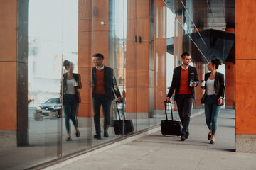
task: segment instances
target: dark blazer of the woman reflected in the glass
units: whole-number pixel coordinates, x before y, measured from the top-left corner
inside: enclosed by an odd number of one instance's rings
[[[75,87],[75,98],[76,98],[76,102],[80,103],[81,102],[81,98],[80,98],[80,94],[78,89],[82,88],[82,84],[81,84],[81,78],[80,78],[80,74],[75,74],[73,73],[74,79],[75,81],[78,81],[78,86]],[[67,89],[67,73],[63,74],[63,103],[65,101],[65,91]]]

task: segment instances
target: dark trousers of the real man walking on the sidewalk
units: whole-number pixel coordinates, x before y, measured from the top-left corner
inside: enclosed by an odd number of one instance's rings
[[[181,135],[187,136],[189,132],[188,125],[190,122],[193,95],[179,94],[176,100],[176,103],[178,106],[178,115],[181,119],[181,124],[182,124]]]

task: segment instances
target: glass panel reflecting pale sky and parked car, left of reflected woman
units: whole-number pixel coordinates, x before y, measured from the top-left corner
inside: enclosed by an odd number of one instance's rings
[[[31,165],[61,156],[62,13],[63,1],[29,1],[28,90],[31,102],[28,111],[30,149],[26,151],[37,153],[29,157]]]

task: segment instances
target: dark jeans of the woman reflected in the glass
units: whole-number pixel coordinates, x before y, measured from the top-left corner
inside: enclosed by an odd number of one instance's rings
[[[65,114],[65,127],[68,133],[70,133],[70,119],[73,122],[75,128],[78,127],[77,108],[78,102],[75,98],[75,94],[65,94],[65,101],[63,101],[64,114]]]

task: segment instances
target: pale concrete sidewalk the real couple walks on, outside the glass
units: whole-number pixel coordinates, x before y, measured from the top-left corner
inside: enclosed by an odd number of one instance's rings
[[[256,154],[235,152],[235,110],[221,110],[215,145],[207,140],[204,115],[191,119],[190,136],[146,135],[60,169],[255,169]]]

